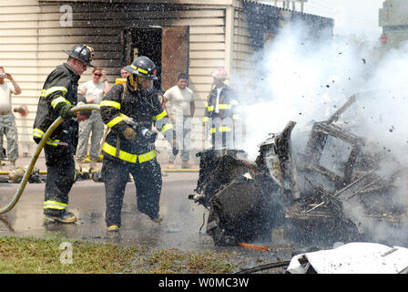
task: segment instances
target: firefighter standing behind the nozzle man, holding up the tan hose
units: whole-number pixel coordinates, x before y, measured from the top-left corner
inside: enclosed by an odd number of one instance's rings
[[[41,91],[33,136],[34,141],[39,143],[58,117],[64,119],[44,147],[47,171],[44,214],[46,219],[56,222],[75,223],[76,215],[68,212],[66,207],[68,193],[74,183],[78,119],[85,118],[72,113],[71,108],[78,102],[78,80],[87,66],[92,66],[94,49],[76,45],[64,52],[68,55],[66,63],[57,66],[48,75]],[[74,119],[76,116],[77,119]]]

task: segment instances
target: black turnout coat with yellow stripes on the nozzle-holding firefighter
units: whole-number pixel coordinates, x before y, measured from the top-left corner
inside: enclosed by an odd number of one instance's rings
[[[102,120],[110,129],[102,146],[104,159],[143,163],[157,156],[154,144],[148,144],[143,139],[130,142],[125,138],[123,131],[128,128],[128,123],[121,113],[148,130],[152,130],[154,125],[169,142],[172,141],[172,123],[168,120],[166,110],[161,108],[157,91],[154,89],[135,91],[127,84],[117,84],[102,99],[100,113]]]

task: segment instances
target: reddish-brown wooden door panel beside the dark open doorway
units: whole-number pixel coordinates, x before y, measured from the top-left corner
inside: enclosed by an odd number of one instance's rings
[[[161,34],[161,88],[166,91],[179,73],[189,73],[189,26],[163,27]]]

